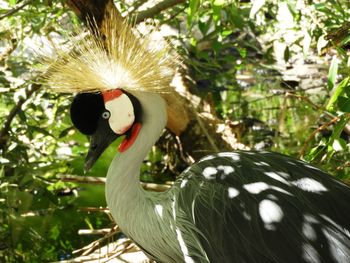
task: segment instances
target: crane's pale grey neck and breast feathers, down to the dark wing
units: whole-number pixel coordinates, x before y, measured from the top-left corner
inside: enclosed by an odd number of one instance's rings
[[[177,224],[176,188],[156,193],[145,191],[140,185],[142,161],[164,129],[167,113],[165,101],[158,94],[135,92],[133,95],[141,103],[142,128],[134,144],[118,154],[109,167],[108,207],[121,230],[155,259],[195,262],[187,256],[186,241],[193,253],[202,257],[201,262],[208,262],[199,242],[194,241],[191,223],[182,218],[181,224]]]

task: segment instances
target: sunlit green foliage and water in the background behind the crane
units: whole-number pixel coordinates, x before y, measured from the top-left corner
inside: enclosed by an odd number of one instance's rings
[[[130,16],[154,5],[145,2],[116,4]],[[242,124],[250,147],[300,155],[348,180],[349,1],[178,2],[153,19],[170,32],[191,92]],[[113,224],[84,209],[105,207],[104,190],[77,176],[87,139],[72,128],[71,98],[36,84],[33,50],[64,44],[78,25],[64,1],[0,1],[1,262],[69,259],[96,239],[79,229]],[[115,147],[89,176],[106,174]],[[164,162],[152,152],[143,179],[161,180],[152,171]]]

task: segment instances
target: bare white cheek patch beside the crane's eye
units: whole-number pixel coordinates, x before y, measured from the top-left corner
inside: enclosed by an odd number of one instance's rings
[[[116,134],[124,134],[134,123],[134,107],[125,94],[105,102],[105,108],[111,113],[109,126]]]

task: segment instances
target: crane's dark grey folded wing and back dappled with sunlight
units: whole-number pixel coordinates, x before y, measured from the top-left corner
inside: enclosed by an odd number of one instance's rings
[[[175,184],[210,262],[350,262],[350,189],[305,162],[220,153]]]

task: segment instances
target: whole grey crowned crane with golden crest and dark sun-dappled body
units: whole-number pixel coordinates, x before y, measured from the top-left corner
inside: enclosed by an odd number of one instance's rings
[[[123,230],[158,262],[350,262],[350,189],[300,160],[222,152],[188,167],[165,192],[140,186],[143,159],[167,121],[167,48],[149,48],[113,22],[58,51],[47,83],[77,92],[71,118],[91,136],[86,169],[124,136],[106,199]]]

